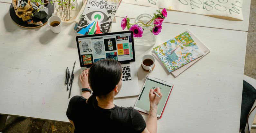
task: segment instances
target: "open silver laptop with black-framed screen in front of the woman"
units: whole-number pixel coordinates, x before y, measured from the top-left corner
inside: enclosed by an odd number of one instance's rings
[[[115,59],[122,64],[122,88],[115,98],[139,95],[132,31],[83,35],[76,37],[83,70],[102,59]]]

